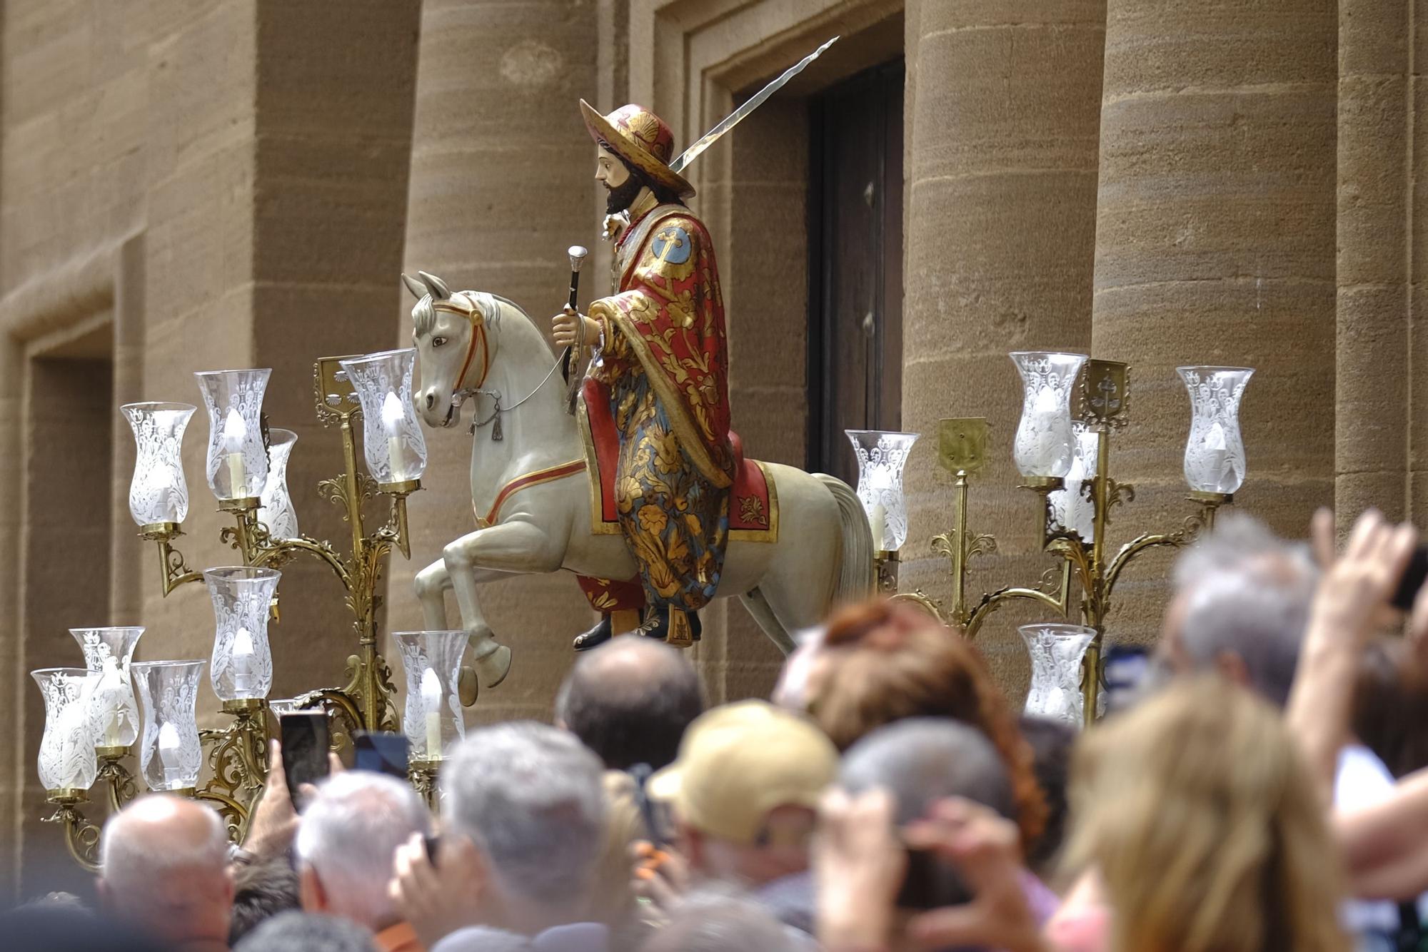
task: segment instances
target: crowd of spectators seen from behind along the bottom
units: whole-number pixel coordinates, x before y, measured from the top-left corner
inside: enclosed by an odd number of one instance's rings
[[[1411,527],[1245,517],[1180,555],[1132,704],[1018,716],[974,644],[844,608],[770,701],[707,708],[681,652],[583,654],[554,725],[473,729],[433,816],[273,771],[241,849],[176,796],[109,819],[94,909],[0,943],[208,952],[1348,952],[1428,948],[1428,595]],[[1401,601],[1401,599],[1399,599]],[[1428,909],[1428,903],[1425,903]]]

